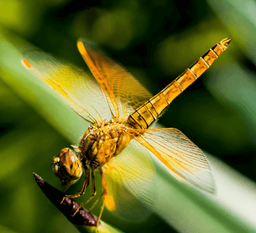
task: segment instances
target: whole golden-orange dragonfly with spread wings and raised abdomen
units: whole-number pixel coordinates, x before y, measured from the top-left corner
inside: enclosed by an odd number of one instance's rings
[[[94,172],[100,171],[102,194],[89,210],[103,199],[97,226],[104,206],[112,210],[116,207],[113,196],[118,190],[109,188],[109,177],[124,183],[131,195],[142,196],[146,202],[152,199],[150,177],[154,168],[149,168],[152,165],[147,158],[140,158],[147,150],[179,181],[215,192],[214,178],[203,152],[181,131],[152,126],[170,103],[210,68],[230,41],[228,37],[214,45],[154,97],[122,65],[86,39],[77,41],[77,48],[93,76],[38,50],[24,54],[24,66],[90,124],[78,145],[62,149],[53,159],[53,172],[65,188],[76,183],[84,172],[82,189],[66,194],[69,198],[83,195],[91,179],[92,195],[82,207],[95,196]]]

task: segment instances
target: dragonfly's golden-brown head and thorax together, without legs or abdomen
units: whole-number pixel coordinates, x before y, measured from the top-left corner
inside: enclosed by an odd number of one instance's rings
[[[82,168],[91,170],[102,167],[117,156],[131,141],[127,134],[127,119],[112,119],[103,123],[93,123],[82,135],[80,144],[71,149],[64,148],[53,159],[53,172],[62,185],[72,185],[82,175]]]

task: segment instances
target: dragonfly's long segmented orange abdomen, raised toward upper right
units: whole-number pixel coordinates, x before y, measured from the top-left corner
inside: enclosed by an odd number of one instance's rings
[[[231,38],[223,39],[200,57],[161,92],[136,109],[128,118],[128,123],[137,129],[147,129],[154,123],[172,101],[198,79],[205,70],[228,48]]]

